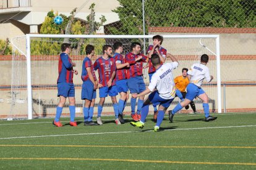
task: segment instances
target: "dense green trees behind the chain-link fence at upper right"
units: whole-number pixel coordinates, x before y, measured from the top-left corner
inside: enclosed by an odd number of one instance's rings
[[[111,34],[143,34],[142,1],[117,0],[113,10],[121,25]],[[150,26],[237,27],[256,26],[255,0],[145,0],[145,28]]]

